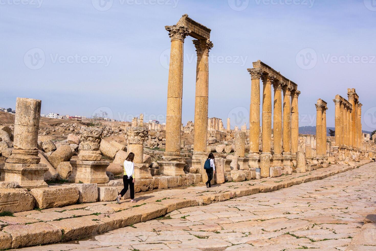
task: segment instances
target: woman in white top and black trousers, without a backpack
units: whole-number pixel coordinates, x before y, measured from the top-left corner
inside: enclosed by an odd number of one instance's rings
[[[136,202],[135,198],[135,164],[133,163],[133,159],[135,158],[135,154],[130,152],[127,158],[124,161],[124,176],[123,176],[123,183],[124,188],[121,190],[120,195],[116,197],[116,201],[119,204],[121,197],[125,195],[128,190],[128,185],[130,189],[130,202]]]

